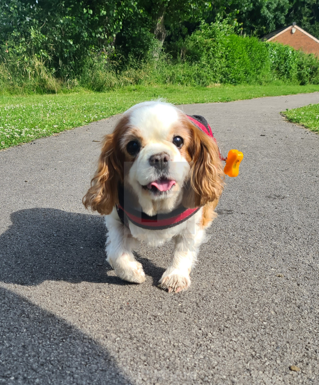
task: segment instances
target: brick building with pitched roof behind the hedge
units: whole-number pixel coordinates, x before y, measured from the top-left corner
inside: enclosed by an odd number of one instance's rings
[[[306,54],[315,54],[319,57],[319,40],[298,27],[296,23],[292,23],[288,27],[277,29],[265,35],[262,40],[267,42],[278,42],[290,45],[296,50],[302,50]]]

